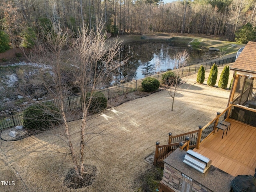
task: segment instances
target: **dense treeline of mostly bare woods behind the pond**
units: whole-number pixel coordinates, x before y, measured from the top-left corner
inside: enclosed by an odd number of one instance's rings
[[[42,24],[76,32],[83,22],[94,28],[102,19],[112,34],[206,34],[233,41],[244,25],[256,26],[255,14],[256,0],[2,0],[0,40],[29,47]]]

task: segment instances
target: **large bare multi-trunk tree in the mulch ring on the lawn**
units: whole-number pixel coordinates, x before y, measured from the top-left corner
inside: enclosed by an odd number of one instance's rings
[[[93,113],[90,112],[90,108],[94,93],[98,88],[106,86],[118,72],[118,68],[126,62],[120,61],[118,57],[121,42],[117,38],[106,42],[103,27],[102,22],[92,30],[83,26],[76,38],[73,38],[69,31],[60,25],[53,25],[50,30],[42,30],[40,41],[37,42],[31,56],[34,62],[49,66],[48,72],[44,70],[40,77],[48,94],[57,101],[64,124],[68,154],[72,157],[76,175],[80,180],[83,180],[86,174],[86,144],[104,132],[88,126],[89,114]],[[74,85],[80,91],[82,105],[79,146],[72,142],[65,111],[65,99],[72,94]]]

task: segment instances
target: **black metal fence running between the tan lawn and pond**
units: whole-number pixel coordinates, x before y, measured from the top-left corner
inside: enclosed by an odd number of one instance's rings
[[[218,66],[223,66],[228,63],[234,62],[236,57],[232,58],[227,58],[215,62],[209,62],[203,64],[205,70],[210,69],[212,65],[215,63]],[[200,68],[201,64],[198,65],[193,65],[193,66],[188,66],[186,68],[182,69],[182,77],[189,76],[192,74],[196,74]],[[162,74],[156,74],[154,76],[151,76],[156,78],[157,80],[162,79]],[[98,92],[102,92],[106,98],[111,99],[115,98],[117,96],[124,95],[126,93],[138,91],[141,88],[141,83],[143,79],[140,80],[134,80],[131,82],[126,82],[122,83],[117,86],[111,86],[107,88],[103,88],[98,90]],[[52,100],[52,102],[54,102]],[[81,95],[75,95],[75,96],[69,96],[68,98],[65,99],[64,101],[64,110],[65,111],[72,111],[72,110],[77,110],[80,109],[81,106]],[[22,111],[24,111],[26,107],[20,107],[20,108],[14,108],[14,109],[9,109],[6,111],[1,111],[0,112],[0,130],[10,128],[13,126],[21,125],[22,124]]]

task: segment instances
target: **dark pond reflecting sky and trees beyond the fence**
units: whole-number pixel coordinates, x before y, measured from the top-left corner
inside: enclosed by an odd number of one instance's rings
[[[120,55],[122,58],[128,56],[129,60],[120,69],[119,76],[115,82],[132,81],[142,79],[159,72],[172,70],[174,68],[174,54],[187,50],[190,55],[188,64],[196,64],[205,51],[194,50],[188,46],[173,46],[170,43],[160,42],[136,42],[122,46]]]

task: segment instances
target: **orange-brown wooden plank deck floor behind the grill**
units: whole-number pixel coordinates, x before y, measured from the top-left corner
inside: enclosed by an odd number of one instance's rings
[[[215,131],[195,152],[212,160],[212,165],[231,174],[254,175],[256,168],[256,128],[231,122],[230,131]]]

